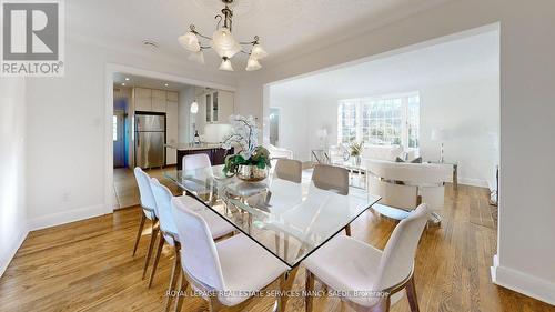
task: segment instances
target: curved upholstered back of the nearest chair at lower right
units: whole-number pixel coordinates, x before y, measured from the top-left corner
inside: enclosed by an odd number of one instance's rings
[[[380,260],[375,290],[391,288],[411,274],[428,214],[427,205],[421,204],[395,227]]]

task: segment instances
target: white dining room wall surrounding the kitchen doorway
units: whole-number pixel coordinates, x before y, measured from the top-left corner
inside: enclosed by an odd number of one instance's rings
[[[232,85],[229,76],[165,62],[150,52],[113,51],[67,40],[65,77],[28,82],[27,189],[31,229],[111,211],[107,125],[107,63]],[[110,90],[110,89],[108,89]],[[111,107],[111,105],[110,105]],[[111,112],[108,113],[111,115]],[[109,157],[107,154],[110,153]]]

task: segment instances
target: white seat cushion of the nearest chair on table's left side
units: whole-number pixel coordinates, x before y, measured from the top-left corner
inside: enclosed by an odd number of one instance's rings
[[[238,295],[238,292],[260,291],[289,270],[287,265],[244,234],[218,242],[216,250],[225,290],[232,294],[220,295],[219,300],[228,306],[248,299]]]

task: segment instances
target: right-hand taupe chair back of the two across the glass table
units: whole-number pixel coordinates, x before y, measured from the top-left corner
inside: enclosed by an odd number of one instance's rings
[[[349,194],[349,171],[344,168],[316,164],[312,182],[319,189],[335,191],[342,195]]]

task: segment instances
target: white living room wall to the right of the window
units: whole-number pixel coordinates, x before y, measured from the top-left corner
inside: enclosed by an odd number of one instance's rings
[[[498,164],[498,78],[434,85],[420,90],[420,152],[424,160],[440,159],[434,129],[445,130],[446,162],[458,163],[458,182],[487,188]]]

